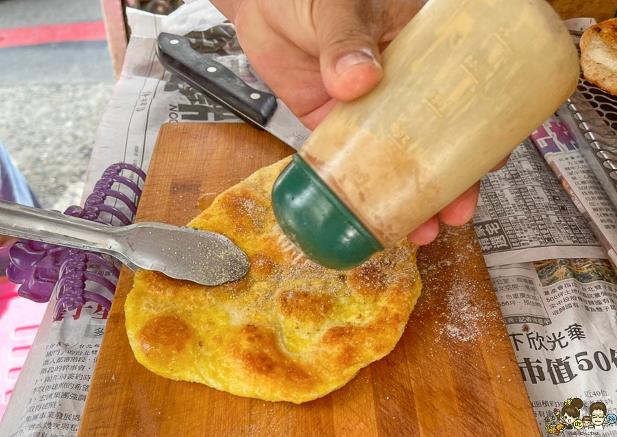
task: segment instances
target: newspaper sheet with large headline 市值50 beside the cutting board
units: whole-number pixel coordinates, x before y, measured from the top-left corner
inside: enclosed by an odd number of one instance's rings
[[[617,436],[617,277],[609,261],[548,259],[489,274],[542,435]],[[582,406],[566,416],[568,399]]]

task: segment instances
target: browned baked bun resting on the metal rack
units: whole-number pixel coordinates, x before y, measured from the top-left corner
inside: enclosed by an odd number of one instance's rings
[[[593,25],[581,38],[585,79],[617,95],[617,19]]]

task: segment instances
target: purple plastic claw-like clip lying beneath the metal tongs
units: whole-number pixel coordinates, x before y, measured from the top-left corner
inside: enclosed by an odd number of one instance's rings
[[[107,213],[109,220],[116,217],[122,225],[131,224],[137,211],[141,189],[138,183],[128,177],[121,176],[123,170],[132,172],[145,181],[145,172],[134,165],[125,163],[110,165],[96,183],[93,193],[84,202],[84,208],[69,206],[64,213],[111,225],[110,222],[99,217],[101,213]],[[112,188],[115,184],[119,184],[118,189]],[[132,191],[134,200],[122,193],[121,187],[126,187]],[[107,204],[108,198],[119,200],[125,204],[128,214],[121,211],[117,206]],[[106,272],[109,272],[113,281],[101,274],[88,271],[89,263],[96,263]],[[72,311],[88,301],[97,303],[109,310],[111,300],[97,292],[86,290],[86,287],[89,283],[99,283],[110,294],[114,294],[119,274],[118,268],[104,255],[30,240],[20,240],[12,246],[10,264],[7,268],[8,279],[13,283],[21,284],[18,291],[19,295],[35,302],[48,302],[54,287],[56,287],[58,295],[54,311],[56,320],[62,317],[62,312],[65,310]]]

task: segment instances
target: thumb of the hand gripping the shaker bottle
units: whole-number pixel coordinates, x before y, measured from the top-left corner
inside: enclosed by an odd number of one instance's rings
[[[381,80],[379,49],[369,2],[338,0],[319,3],[315,31],[319,65],[326,91],[349,102],[371,91]]]

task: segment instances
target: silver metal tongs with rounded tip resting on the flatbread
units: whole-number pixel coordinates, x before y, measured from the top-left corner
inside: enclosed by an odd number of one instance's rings
[[[106,226],[5,200],[0,234],[105,253],[132,270],[157,270],[202,285],[241,279],[250,267],[245,253],[221,234],[152,222]]]

